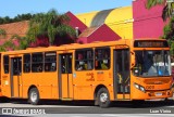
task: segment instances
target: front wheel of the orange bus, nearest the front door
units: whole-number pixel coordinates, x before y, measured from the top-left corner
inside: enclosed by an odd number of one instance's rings
[[[101,88],[97,93],[97,100],[100,107],[109,107],[111,104],[109,92],[105,88]]]

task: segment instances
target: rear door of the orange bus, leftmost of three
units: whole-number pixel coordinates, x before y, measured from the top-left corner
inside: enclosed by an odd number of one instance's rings
[[[11,96],[22,96],[22,57],[11,57]]]

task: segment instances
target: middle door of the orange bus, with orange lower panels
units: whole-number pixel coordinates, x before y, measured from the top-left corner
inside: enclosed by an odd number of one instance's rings
[[[59,55],[59,98],[72,99],[72,53]]]

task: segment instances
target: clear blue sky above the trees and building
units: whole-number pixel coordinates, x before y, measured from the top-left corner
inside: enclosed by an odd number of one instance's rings
[[[132,5],[132,0],[0,0],[0,17],[47,13],[51,9],[59,13],[71,11],[73,14],[79,14],[127,5]]]

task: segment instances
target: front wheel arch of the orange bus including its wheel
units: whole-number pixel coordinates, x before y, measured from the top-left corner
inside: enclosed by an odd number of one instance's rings
[[[100,107],[109,107],[111,104],[110,94],[105,86],[99,84],[95,90],[95,105]]]

